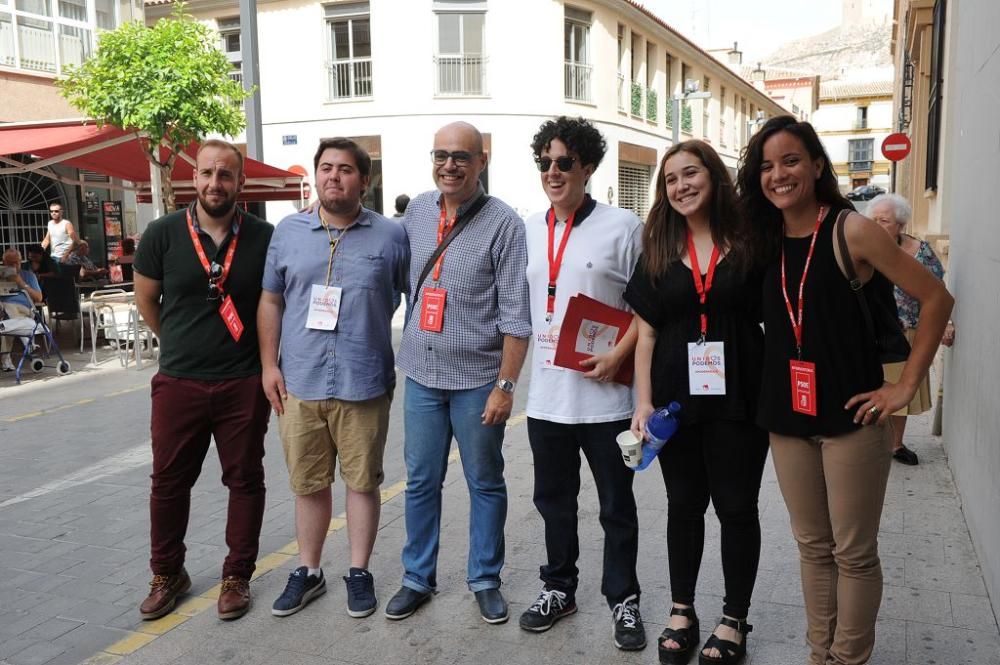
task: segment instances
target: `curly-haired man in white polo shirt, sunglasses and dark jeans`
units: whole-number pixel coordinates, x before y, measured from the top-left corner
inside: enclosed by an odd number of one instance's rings
[[[533,352],[528,392],[528,438],[534,457],[534,502],[545,522],[544,588],[521,615],[521,628],[542,632],[576,612],[580,554],[577,496],[580,453],[593,472],[604,529],[601,593],[614,621],[615,646],[639,650],[646,633],[639,614],[636,558],[639,521],[615,437],[629,429],[630,386],[615,383],[635,348],[633,324],[610,352],[581,363],[580,371],[553,358],[567,303],[579,293],[618,309],[639,258],[642,224],[632,212],[594,201],[587,181],[607,145],[586,120],[560,117],[542,124],[532,141],[548,210],[525,221]]]

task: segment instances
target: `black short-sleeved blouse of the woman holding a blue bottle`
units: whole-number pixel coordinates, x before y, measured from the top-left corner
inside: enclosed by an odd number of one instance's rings
[[[650,365],[653,405],[679,402],[682,425],[719,420],[753,422],[764,350],[761,276],[760,270],[742,274],[725,258],[719,261],[705,302],[706,337],[725,345],[726,394],[692,396],[687,345],[701,336],[701,310],[691,269],[677,261],[654,284],[639,259],[625,289],[625,301],[656,329]]]

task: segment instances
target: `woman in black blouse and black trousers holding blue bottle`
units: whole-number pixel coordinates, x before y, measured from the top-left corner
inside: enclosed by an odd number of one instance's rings
[[[632,429],[642,436],[654,406],[676,400],[682,407],[681,427],[659,455],[673,600],[660,662],[686,663],[699,642],[694,594],[711,498],[726,596],[699,659],[728,665],[746,651],[760,555],[767,433],[753,419],[764,340],[760,274],[729,172],[709,145],[686,141],[664,155],[643,247],[625,291],[639,325]]]

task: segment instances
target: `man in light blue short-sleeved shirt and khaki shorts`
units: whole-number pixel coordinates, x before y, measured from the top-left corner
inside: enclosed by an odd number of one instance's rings
[[[377,606],[368,560],[396,383],[393,292],[407,290],[410,254],[403,228],[361,205],[371,173],[363,149],[326,139],[314,162],[320,205],[275,228],[257,314],[264,392],[278,414],[296,495],[300,559],[271,612],[294,614],[326,590],[319,564],[339,457],[351,555],[347,611],[360,618]]]

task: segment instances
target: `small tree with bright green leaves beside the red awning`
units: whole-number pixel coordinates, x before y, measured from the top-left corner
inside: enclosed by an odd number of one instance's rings
[[[180,152],[207,134],[235,136],[246,126],[241,103],[252,93],[229,77],[217,40],[178,2],[152,28],[133,21],[102,33],[94,56],[58,81],[85,116],[148,137],[146,157],[161,174],[167,210],[175,208],[170,174]]]

